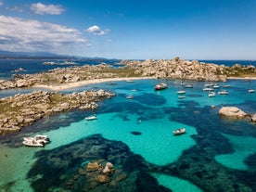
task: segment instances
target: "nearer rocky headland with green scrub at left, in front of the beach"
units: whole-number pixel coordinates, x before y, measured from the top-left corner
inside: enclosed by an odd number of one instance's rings
[[[70,109],[96,109],[101,98],[115,96],[104,91],[83,91],[64,95],[56,92],[35,91],[31,94],[0,99],[0,135],[14,133],[22,127],[58,112]]]

